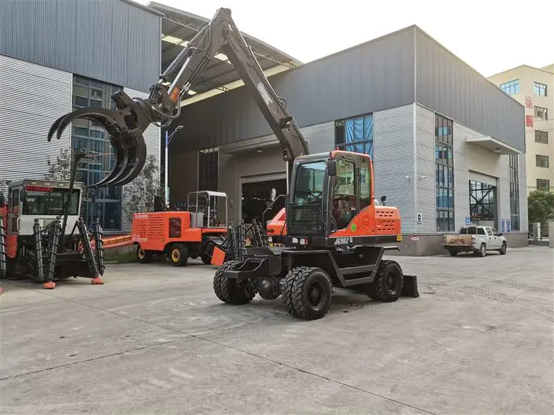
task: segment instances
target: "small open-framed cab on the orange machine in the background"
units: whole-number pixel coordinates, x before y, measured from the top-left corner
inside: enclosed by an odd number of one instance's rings
[[[229,207],[224,192],[200,190],[187,195],[193,228],[226,228]]]

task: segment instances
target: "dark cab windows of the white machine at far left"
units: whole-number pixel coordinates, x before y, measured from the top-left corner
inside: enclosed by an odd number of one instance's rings
[[[78,189],[73,189],[71,192],[68,207],[70,215],[79,213],[79,192]],[[45,187],[37,190],[29,187],[26,199],[23,201],[23,214],[61,215],[68,194],[69,190],[66,189]]]

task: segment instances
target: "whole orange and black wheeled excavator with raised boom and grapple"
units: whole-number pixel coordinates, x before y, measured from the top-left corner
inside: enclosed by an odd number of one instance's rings
[[[73,111],[53,124],[48,140],[56,131],[59,138],[75,118],[100,122],[111,133],[118,163],[96,185],[129,183],[145,163],[143,131],[150,122],[166,127],[179,117],[181,97],[220,50],[283,147],[288,194],[285,247],[238,250],[235,260],[217,269],[215,295],[235,305],[248,304],[256,294],[263,299],[281,296],[289,313],[306,320],[328,313],[333,287],[353,288],[384,302],[401,295],[418,297],[417,278],[404,275],[396,261],[383,259],[386,250],[398,249],[395,243],[402,241],[400,214],[397,208],[376,208],[370,156],[338,150],[309,154],[285,100],[269,84],[229,9],[217,10],[190,40],[152,86],[148,99],[131,99],[118,91],[112,95],[116,111]]]

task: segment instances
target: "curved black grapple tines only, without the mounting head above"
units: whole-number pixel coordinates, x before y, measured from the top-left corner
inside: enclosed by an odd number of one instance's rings
[[[80,108],[58,118],[48,131],[48,141],[54,134],[60,139],[64,129],[74,120],[83,118],[97,122],[110,135],[114,147],[115,164],[111,172],[89,187],[113,187],[131,183],[141,172],[146,161],[146,143],[141,129],[131,129],[127,122],[136,125],[136,114],[130,108],[111,110],[105,108]]]

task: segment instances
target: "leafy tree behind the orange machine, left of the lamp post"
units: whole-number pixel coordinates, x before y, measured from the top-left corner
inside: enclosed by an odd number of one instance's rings
[[[132,216],[134,213],[152,212],[155,196],[163,195],[156,156],[149,154],[139,176],[123,191],[123,213]]]

